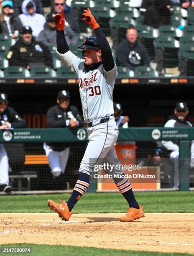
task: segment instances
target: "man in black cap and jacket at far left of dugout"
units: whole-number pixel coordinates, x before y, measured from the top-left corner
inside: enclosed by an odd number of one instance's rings
[[[11,107],[8,107],[8,96],[0,92],[0,129],[26,128],[26,122]],[[0,143],[0,191],[10,192],[8,156]]]

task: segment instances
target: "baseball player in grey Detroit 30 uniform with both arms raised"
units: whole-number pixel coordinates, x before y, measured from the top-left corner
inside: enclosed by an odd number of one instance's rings
[[[95,37],[87,37],[79,49],[83,49],[84,59],[79,59],[66,44],[64,36],[64,11],[54,16],[57,24],[57,54],[65,64],[78,74],[79,93],[82,102],[84,121],[87,127],[89,143],[79,167],[79,178],[71,197],[61,203],[48,200],[48,207],[59,214],[62,220],[69,220],[71,210],[89,187],[94,166],[104,159],[120,164],[114,148],[118,138],[115,123],[112,92],[117,77],[117,67],[112,57],[106,37],[100,30],[89,8],[84,10],[84,22],[94,30]],[[122,175],[121,168],[115,173]],[[110,174],[110,172],[109,172]],[[127,178],[114,178],[114,182],[129,204],[127,214],[120,221],[133,221],[144,216],[143,207],[138,205],[132,187]]]

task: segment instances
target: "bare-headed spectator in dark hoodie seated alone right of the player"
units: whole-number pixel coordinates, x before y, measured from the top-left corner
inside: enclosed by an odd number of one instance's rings
[[[138,66],[149,66],[147,50],[138,41],[138,32],[133,25],[127,29],[126,39],[123,39],[118,45],[117,65],[132,70]]]

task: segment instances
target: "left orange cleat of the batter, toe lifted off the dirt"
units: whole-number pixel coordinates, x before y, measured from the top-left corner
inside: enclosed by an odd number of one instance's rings
[[[59,202],[61,202],[61,204],[56,203],[53,200],[49,199],[47,201],[48,207],[51,208],[51,210],[53,210],[54,212],[58,213],[59,217],[62,220],[66,220],[66,221],[69,220],[72,212],[69,212],[67,203],[59,198],[57,198],[57,200],[59,200]]]

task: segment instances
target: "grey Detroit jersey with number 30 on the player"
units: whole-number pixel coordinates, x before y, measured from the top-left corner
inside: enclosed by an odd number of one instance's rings
[[[56,53],[65,55],[58,51]],[[93,71],[83,72],[84,60],[71,53],[71,69],[78,74],[85,122],[114,115],[112,92],[117,77],[116,64],[109,72],[106,72],[102,65]]]

